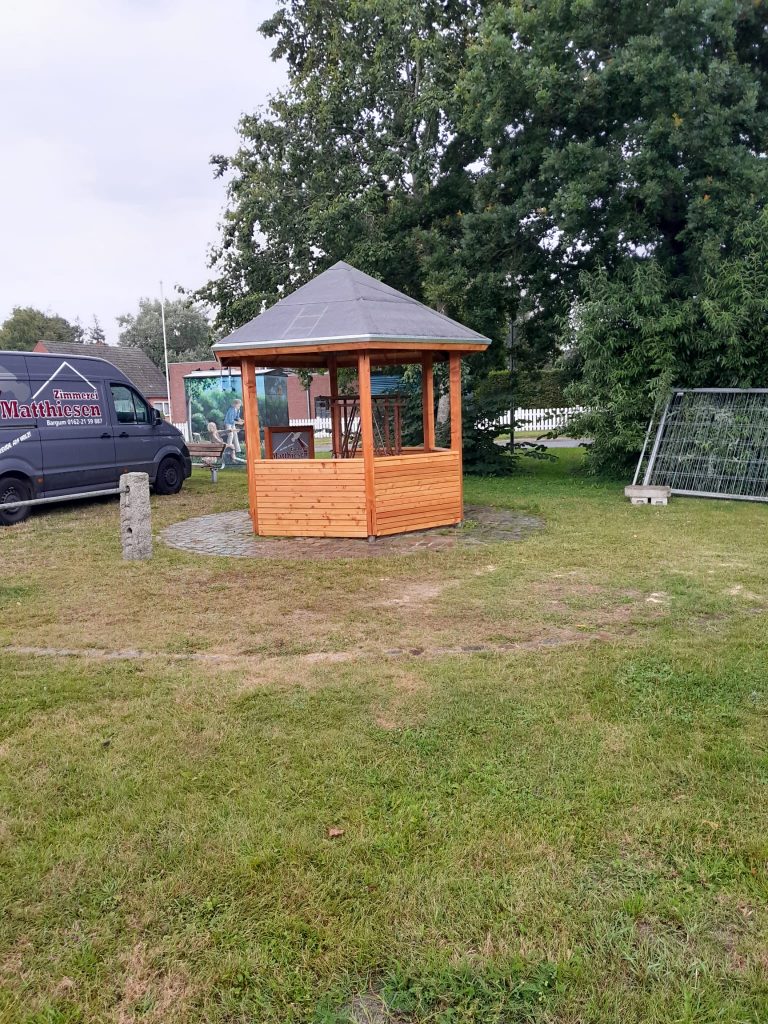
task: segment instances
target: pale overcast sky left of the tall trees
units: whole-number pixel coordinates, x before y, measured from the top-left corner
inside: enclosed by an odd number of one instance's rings
[[[207,280],[211,154],[283,82],[278,0],[0,0],[0,322],[14,305],[108,340],[141,296]]]

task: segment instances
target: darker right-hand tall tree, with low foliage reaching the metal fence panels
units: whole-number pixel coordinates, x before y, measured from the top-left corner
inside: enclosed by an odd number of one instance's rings
[[[765,306],[744,323],[733,283],[761,246],[767,75],[752,0],[519,0],[483,22],[460,83],[486,146],[467,247],[532,339],[564,326],[597,463],[627,464],[670,384],[758,382]]]

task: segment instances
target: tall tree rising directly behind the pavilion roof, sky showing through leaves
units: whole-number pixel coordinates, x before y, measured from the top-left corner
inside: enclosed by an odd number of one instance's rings
[[[459,258],[476,141],[455,84],[481,0],[289,0],[262,32],[288,85],[214,163],[229,205],[202,296],[232,328],[339,259],[487,327]]]

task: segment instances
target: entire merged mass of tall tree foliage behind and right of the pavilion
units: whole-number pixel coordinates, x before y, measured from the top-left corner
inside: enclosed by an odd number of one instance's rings
[[[494,339],[471,393],[514,322],[517,390],[566,346],[624,466],[664,386],[752,379],[724,274],[760,245],[765,29],[763,0],[285,0],[201,297],[231,329],[348,260]]]

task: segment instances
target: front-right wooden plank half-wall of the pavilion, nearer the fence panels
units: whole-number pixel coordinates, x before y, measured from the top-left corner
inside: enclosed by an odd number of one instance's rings
[[[458,452],[377,458],[377,532],[402,534],[461,522],[461,460]]]

